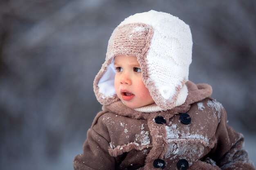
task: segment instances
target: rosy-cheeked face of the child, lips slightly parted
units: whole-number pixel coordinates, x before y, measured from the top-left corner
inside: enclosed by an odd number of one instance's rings
[[[114,62],[115,91],[119,99],[130,108],[139,108],[155,103],[142,82],[137,57],[118,55]]]

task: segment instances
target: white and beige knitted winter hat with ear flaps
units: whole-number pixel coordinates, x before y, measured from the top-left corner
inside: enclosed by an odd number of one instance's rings
[[[142,81],[163,110],[186,100],[192,36],[189,26],[164,12],[148,11],[126,18],[108,41],[106,61],[94,79],[98,101],[109,105],[119,100],[114,88],[114,57],[134,55],[141,66]]]

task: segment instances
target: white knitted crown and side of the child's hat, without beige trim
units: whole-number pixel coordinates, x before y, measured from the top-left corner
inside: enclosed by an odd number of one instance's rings
[[[153,26],[154,34],[147,54],[150,75],[148,81],[154,82],[164,99],[171,100],[176,93],[176,87],[183,88],[182,82],[184,79],[187,81],[189,76],[189,65],[192,61],[192,36],[189,26],[171,14],[153,10],[132,15],[119,26],[135,22]],[[187,89],[183,88],[182,93],[184,102]]]

